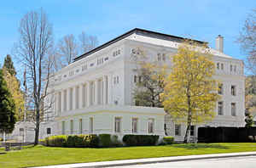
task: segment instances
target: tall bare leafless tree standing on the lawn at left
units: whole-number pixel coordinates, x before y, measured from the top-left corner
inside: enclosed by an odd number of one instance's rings
[[[38,144],[40,121],[44,115],[44,98],[48,95],[53,67],[53,34],[44,10],[31,11],[20,20],[20,41],[15,46],[16,58],[26,68],[26,98],[34,111],[35,142]]]

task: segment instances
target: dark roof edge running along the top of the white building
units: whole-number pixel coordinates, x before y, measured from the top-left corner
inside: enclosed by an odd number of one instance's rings
[[[193,42],[198,42],[200,44],[208,43],[208,42],[202,42],[202,41],[193,40],[193,39],[189,39],[189,38],[184,38],[181,36],[172,36],[172,35],[156,32],[156,31],[148,31],[148,30],[144,30],[144,29],[140,29],[140,28],[135,28],[135,29],[132,29],[131,31],[125,32],[125,34],[123,34],[123,35],[115,37],[113,40],[110,40],[109,42],[103,43],[101,46],[94,48],[87,53],[80,55],[79,57],[73,59],[73,62],[78,61],[79,59],[83,59],[83,58],[89,56],[91,53],[96,53],[97,51],[101,50],[102,48],[106,48],[109,45],[113,44],[114,42],[118,42],[118,41],[124,39],[126,36],[130,36],[131,34],[134,34],[134,33],[138,34],[138,35],[150,36],[150,37],[160,38],[163,40],[174,41],[174,42],[183,42],[184,40],[192,40]]]

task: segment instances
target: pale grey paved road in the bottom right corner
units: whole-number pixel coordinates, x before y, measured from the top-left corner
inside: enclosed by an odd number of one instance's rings
[[[256,156],[210,160],[189,160],[148,165],[127,165],[116,168],[256,168]]]

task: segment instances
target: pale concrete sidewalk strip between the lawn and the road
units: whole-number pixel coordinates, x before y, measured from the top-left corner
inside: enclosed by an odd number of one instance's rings
[[[174,161],[185,161],[185,160],[206,160],[215,158],[229,158],[229,157],[240,157],[240,156],[252,156],[256,155],[256,152],[241,152],[241,153],[228,153],[228,154],[200,154],[200,155],[188,155],[188,156],[172,156],[162,158],[148,158],[138,160],[115,160],[115,161],[102,161],[102,162],[90,162],[90,163],[79,163],[69,165],[49,165],[35,168],[97,168],[97,167],[112,167],[122,165],[138,165],[138,164],[152,164],[152,163],[163,163],[163,162],[174,162]]]

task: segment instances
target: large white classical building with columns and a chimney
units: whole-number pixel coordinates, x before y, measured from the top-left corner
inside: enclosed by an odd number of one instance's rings
[[[54,92],[55,121],[43,124],[41,138],[110,133],[119,138],[125,134],[153,134],[183,140],[185,126],[172,122],[164,109],[135,105],[133,90],[138,76],[137,64],[132,61],[143,53],[148,61],[171,66],[168,57],[177,53],[183,40],[136,28],[74,59],[55,73],[49,87],[49,92]],[[223,53],[223,41],[218,36],[216,48],[211,48],[217,68],[214,77],[222,82],[222,98],[216,104],[216,118],[203,126],[244,126],[243,63]],[[196,136],[196,128],[193,126],[191,136]]]

